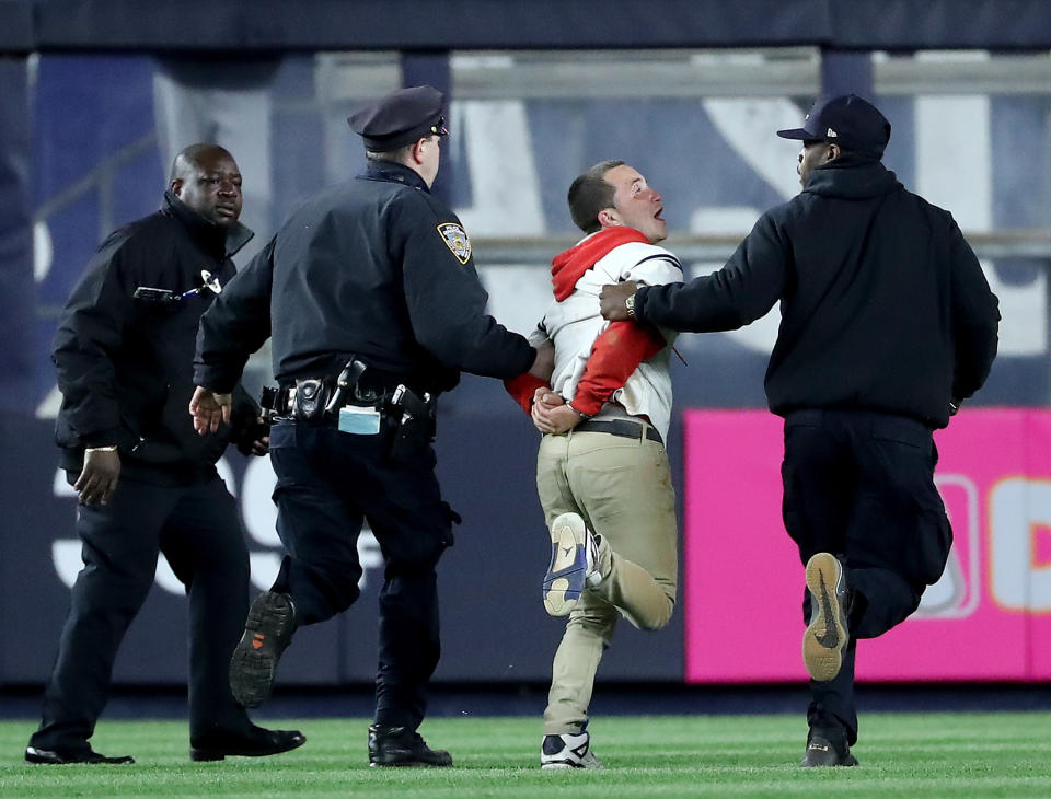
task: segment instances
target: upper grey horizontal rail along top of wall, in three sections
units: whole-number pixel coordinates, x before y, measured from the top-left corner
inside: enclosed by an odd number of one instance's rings
[[[401,82],[394,53],[323,53],[317,66],[317,94],[330,101],[379,96]],[[821,82],[821,51],[457,50],[450,71],[457,100],[812,97]],[[876,51],[873,85],[882,96],[1049,94],[1051,54]]]

